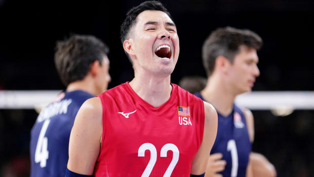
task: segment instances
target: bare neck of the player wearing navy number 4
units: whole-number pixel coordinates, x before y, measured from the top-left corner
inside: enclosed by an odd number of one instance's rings
[[[66,91],[71,92],[75,90],[83,90],[93,95],[98,94],[94,87],[93,81],[91,79],[88,79],[87,77],[89,76],[86,76],[83,80],[71,82],[66,87]]]

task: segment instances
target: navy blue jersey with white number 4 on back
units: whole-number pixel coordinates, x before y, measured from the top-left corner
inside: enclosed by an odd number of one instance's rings
[[[65,176],[70,132],[78,109],[93,95],[62,92],[38,115],[31,129],[30,176]]]

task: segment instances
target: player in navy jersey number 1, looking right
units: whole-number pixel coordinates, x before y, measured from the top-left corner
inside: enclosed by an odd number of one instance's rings
[[[203,45],[206,87],[195,95],[214,105],[218,130],[206,176],[276,176],[273,165],[251,153],[254,140],[252,113],[234,104],[235,96],[251,91],[259,76],[258,34],[232,27],[213,31]]]

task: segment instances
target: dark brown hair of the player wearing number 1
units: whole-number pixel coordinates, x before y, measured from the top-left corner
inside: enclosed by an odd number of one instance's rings
[[[259,50],[262,44],[261,37],[249,29],[217,28],[203,45],[203,65],[207,76],[213,73],[218,56],[224,56],[232,63],[241,45]]]

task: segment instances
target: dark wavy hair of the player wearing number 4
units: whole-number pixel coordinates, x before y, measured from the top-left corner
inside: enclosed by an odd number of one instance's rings
[[[98,60],[101,64],[109,48],[94,36],[71,34],[70,38],[57,41],[55,64],[65,86],[82,80],[88,74],[90,64]]]

